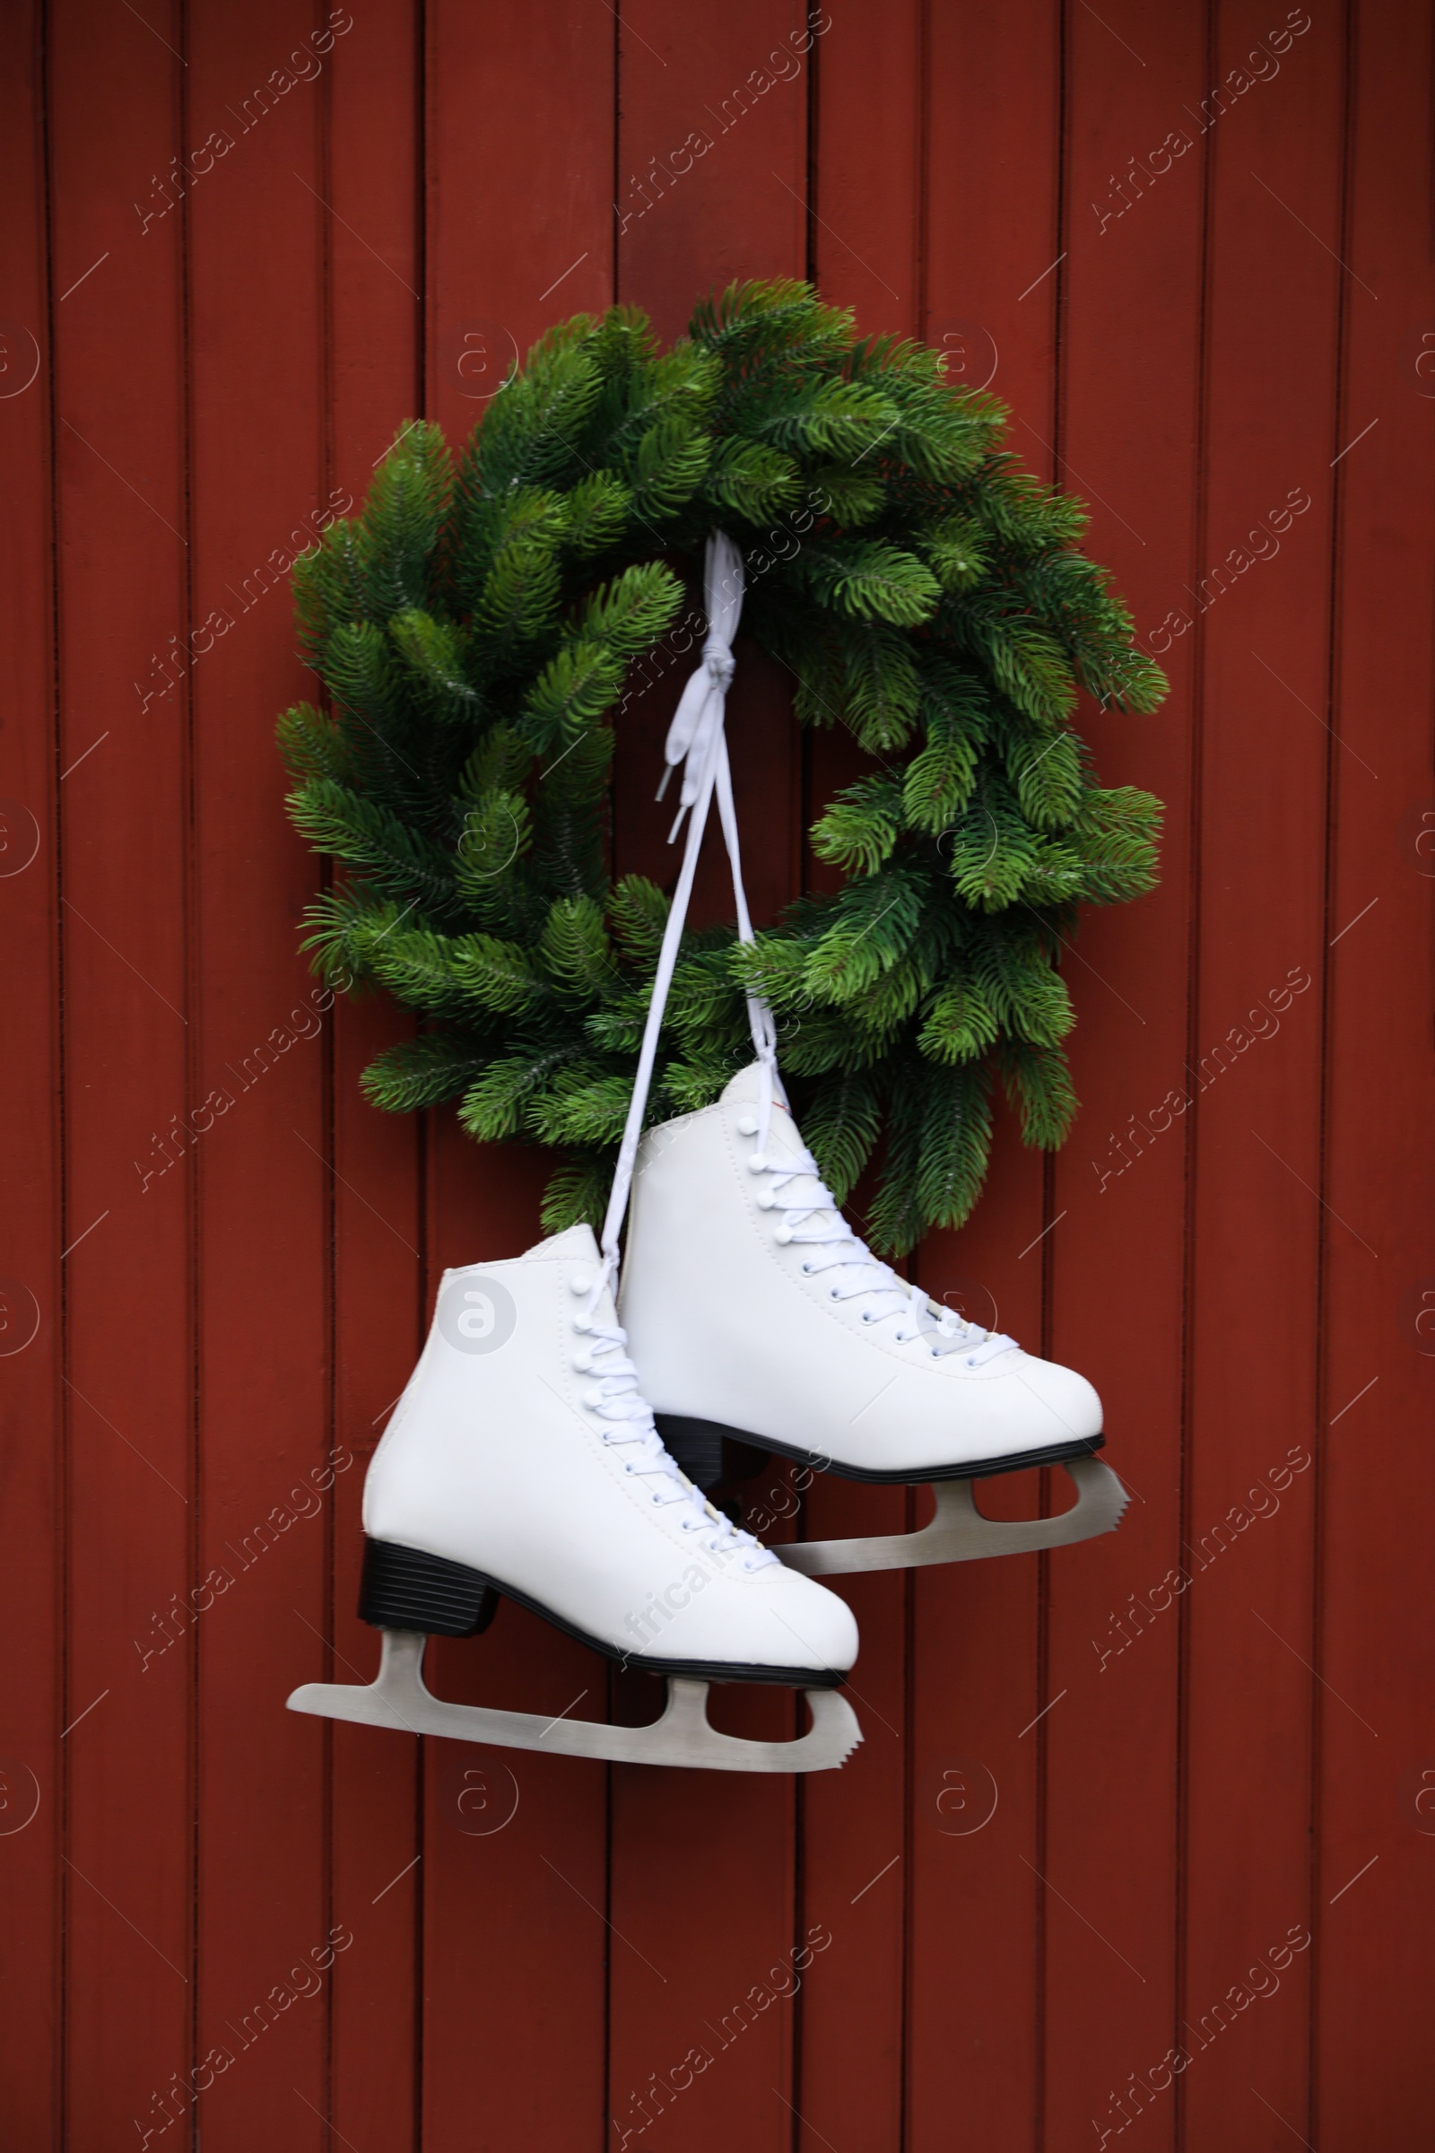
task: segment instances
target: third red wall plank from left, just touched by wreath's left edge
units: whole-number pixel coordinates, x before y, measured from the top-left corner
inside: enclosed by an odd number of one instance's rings
[[[191,687],[191,1029],[200,1083],[232,1098],[198,1154],[202,1561],[232,1576],[198,1632],[198,2039],[232,2056],[204,2106],[219,2153],[275,2129],[331,2144],[329,1976],[336,1953],[376,1948],[329,1892],[331,1737],[284,1712],[327,1658],[331,1178],[327,1025],[295,934],[314,863],[273,719],[310,689],[288,568],[327,491],[318,84],[336,39],[364,34],[344,9],[318,22],[297,0],[200,9],[185,75],[191,164],[211,131],[232,142],[185,205],[194,611],[215,635]]]

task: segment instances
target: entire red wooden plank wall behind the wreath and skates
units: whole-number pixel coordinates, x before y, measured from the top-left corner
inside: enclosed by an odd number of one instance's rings
[[[4,2147],[1426,2147],[1431,11],[15,0],[0,37]],[[536,1238],[542,1167],[364,1107],[398,1018],[295,954],[284,571],[549,321],[676,332],[751,273],[992,377],[1170,672],[1084,715],[1168,818],[1069,956],[1076,1135],[1005,1130],[919,1255],[1093,1376],[1132,1509],[854,1580],[867,1742],[805,1785],[303,1720],[374,1664],[364,1460],[437,1268]],[[770,915],[837,762],[757,663],[734,732]],[[800,1529],[904,1501],[820,1483]],[[439,1677],[648,1709],[512,1606]]]

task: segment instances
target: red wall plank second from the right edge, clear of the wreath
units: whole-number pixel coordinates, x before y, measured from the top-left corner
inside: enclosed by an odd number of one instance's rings
[[[1327,734],[1310,710],[1330,695],[1332,461],[1340,446],[1332,357],[1345,276],[1325,237],[1338,233],[1342,200],[1342,17],[1310,17],[1280,75],[1237,97],[1228,75],[1248,80],[1239,69],[1265,28],[1261,9],[1222,11],[1213,45],[1226,110],[1207,123],[1203,573],[1196,603],[1185,594],[1183,607],[1196,616],[1205,708],[1177,2035],[1192,2063],[1179,2086],[1192,2144],[1220,2136],[1252,2149],[1269,2144],[1276,2127],[1263,2103],[1310,2136],[1308,1948],[1282,1968],[1280,1994],[1246,2004],[1235,2026],[1213,2007],[1220,2000],[1237,2015],[1269,1953],[1291,1933],[1304,1938],[1310,1923],[1310,1466],[1280,1492],[1280,1516],[1261,1514],[1271,1473],[1319,1447],[1321,1206],[1312,1191],[1321,1180]],[[1216,1042],[1233,1066],[1216,1059]],[[1233,1544],[1213,1535],[1218,1520]]]

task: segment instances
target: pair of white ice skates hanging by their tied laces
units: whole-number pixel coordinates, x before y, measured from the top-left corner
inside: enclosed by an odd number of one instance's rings
[[[723,743],[738,611],[723,590],[734,579],[740,592],[740,560],[719,538],[714,629],[669,734],[669,764],[688,760],[684,810],[695,814],[602,1249],[581,1225],[512,1262],[445,1272],[364,1490],[359,1613],[383,1630],[379,1679],[310,1684],[290,1697],[299,1712],[579,1757],[822,1770],[852,1753],[861,1729],[837,1694],[856,1621],[820,1576],[1054,1548],[1110,1531],[1125,1507],[1093,1455],[1102,1404],[1091,1384],[934,1305],[850,1232],[783,1100],[762,1003],[749,1003],[757,1059],[716,1104],[639,1148],[714,794],[751,939]],[[611,1283],[628,1188],[620,1326]],[[919,1533],[768,1550],[673,1458],[714,1453],[721,1436],[856,1481],[932,1481],[936,1516]],[[1046,1464],[1076,1481],[1074,1509],[1015,1524],[975,1509],[975,1479]],[[497,1595],[667,1675],[663,1718],[609,1727],[435,1699],[422,1681],[426,1636],[471,1636]],[[710,1681],[802,1688],[811,1729],[794,1742],[723,1735],[706,1718]]]

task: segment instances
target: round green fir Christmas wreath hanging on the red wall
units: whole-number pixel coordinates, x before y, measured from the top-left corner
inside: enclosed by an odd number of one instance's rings
[[[549,1232],[602,1212],[667,917],[607,868],[613,726],[639,663],[676,695],[714,525],[798,717],[871,769],[811,831],[835,896],[751,947],[684,937],[650,1117],[751,1057],[751,988],[837,1195],[880,1154],[882,1249],[966,1219],[998,1083],[1028,1143],[1067,1135],[1063,941],[1078,904],[1153,885],[1160,820],[1097,786],[1071,715],[1078,689],[1151,710],[1164,678],[1076,549],[1080,502],[1003,424],[923,344],[858,338],[807,284],[736,284],[671,351],[633,308],[551,329],[456,467],[404,426],[299,560],[327,710],[280,721],[288,807],[342,863],[306,947],[422,1016],[364,1074],[379,1107],[458,1098],[473,1137],[562,1154]]]

